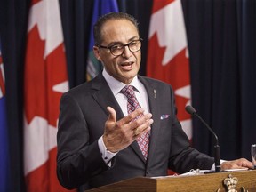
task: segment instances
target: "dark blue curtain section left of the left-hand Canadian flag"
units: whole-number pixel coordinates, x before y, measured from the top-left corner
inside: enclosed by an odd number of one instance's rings
[[[5,74],[5,107],[9,140],[8,191],[26,191],[23,178],[23,66],[28,1],[0,1],[0,38]]]

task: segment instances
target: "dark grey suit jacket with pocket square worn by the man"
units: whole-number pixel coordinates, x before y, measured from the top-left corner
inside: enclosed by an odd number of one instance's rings
[[[65,188],[83,184],[86,188],[96,188],[132,177],[164,176],[168,168],[182,173],[212,167],[211,157],[189,146],[175,114],[172,87],[148,77],[139,79],[148,92],[154,119],[147,162],[136,141],[118,152],[111,167],[103,161],[98,140],[108,119],[106,108],[116,109],[117,120],[124,114],[102,74],[63,94],[57,134],[57,173]],[[162,115],[167,118],[160,119]]]

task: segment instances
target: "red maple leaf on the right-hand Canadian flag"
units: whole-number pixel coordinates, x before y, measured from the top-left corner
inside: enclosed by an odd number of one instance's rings
[[[166,48],[160,47],[156,34],[150,38],[148,42],[148,66],[147,76],[162,80],[168,84],[172,84],[174,92],[177,89],[190,84],[189,64],[186,57],[186,48],[181,50],[166,65],[162,65],[164,52]],[[178,118],[180,120],[189,119],[190,116],[185,112],[185,106],[188,98],[175,96],[176,106],[179,110]]]

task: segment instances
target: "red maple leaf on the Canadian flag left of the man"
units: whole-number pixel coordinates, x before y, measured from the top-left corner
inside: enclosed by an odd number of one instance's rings
[[[28,124],[35,116],[48,120],[56,127],[59,116],[60,92],[53,86],[67,81],[67,66],[60,44],[44,59],[45,41],[40,39],[37,26],[28,33],[25,67],[25,114]]]

